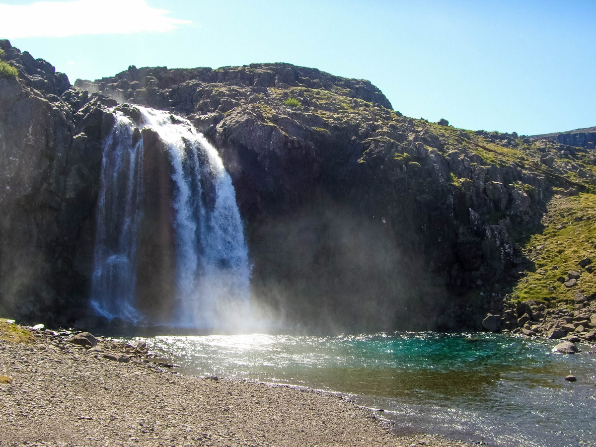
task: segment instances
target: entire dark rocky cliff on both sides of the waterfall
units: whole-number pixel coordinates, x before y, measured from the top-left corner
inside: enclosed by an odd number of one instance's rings
[[[187,116],[218,147],[246,222],[254,302],[297,327],[480,328],[552,188],[594,181],[591,153],[409,119],[364,80],[290,64],[129,67],[77,81],[89,94],[2,45],[23,76],[0,80],[14,98],[0,103],[1,156],[17,160],[0,185],[11,188],[1,290],[12,311],[29,303],[24,316],[68,309],[60,318],[74,321],[85,307],[106,96]]]

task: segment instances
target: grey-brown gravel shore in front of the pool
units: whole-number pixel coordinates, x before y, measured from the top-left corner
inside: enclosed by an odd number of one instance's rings
[[[398,436],[341,396],[175,374],[113,340],[88,350],[67,333],[2,338],[2,446],[467,446]]]

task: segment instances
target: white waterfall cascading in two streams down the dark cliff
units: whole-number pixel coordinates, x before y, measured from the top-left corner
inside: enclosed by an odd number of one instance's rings
[[[144,322],[136,309],[139,225],[143,219],[143,139],[159,135],[172,185],[175,244],[175,296],[169,321],[185,327],[225,327],[231,315],[247,311],[248,251],[231,178],[218,152],[181,117],[137,107],[138,126],[116,111],[104,143],[97,208],[95,266],[91,304],[98,315]]]

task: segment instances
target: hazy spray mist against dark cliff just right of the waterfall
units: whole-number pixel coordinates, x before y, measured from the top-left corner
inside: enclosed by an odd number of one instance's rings
[[[431,330],[445,291],[396,234],[409,237],[331,200],[260,222],[253,302],[292,332]]]

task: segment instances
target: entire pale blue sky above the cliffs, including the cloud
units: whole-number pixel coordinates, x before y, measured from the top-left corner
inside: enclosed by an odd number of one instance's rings
[[[593,0],[69,0],[15,8],[32,3],[0,0],[0,38],[71,82],[131,64],[288,62],[369,79],[403,114],[460,128],[532,135],[596,126]]]

